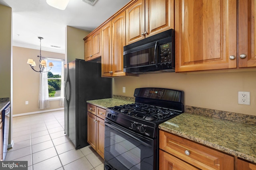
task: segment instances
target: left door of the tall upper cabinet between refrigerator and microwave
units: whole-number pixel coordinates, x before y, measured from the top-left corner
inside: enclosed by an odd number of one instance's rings
[[[109,77],[111,76],[112,70],[112,27],[111,21],[106,23],[101,28],[102,35],[102,56],[101,56],[101,76]]]

